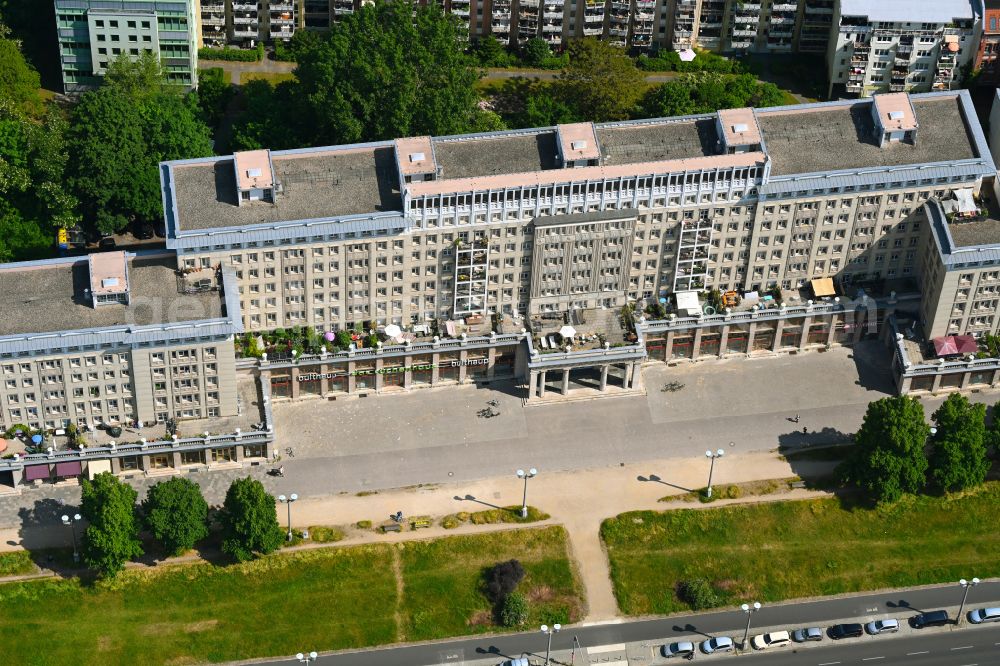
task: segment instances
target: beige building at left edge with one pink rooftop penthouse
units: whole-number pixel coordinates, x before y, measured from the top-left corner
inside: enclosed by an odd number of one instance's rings
[[[0,265],[0,430],[236,414],[232,280],[121,251]]]

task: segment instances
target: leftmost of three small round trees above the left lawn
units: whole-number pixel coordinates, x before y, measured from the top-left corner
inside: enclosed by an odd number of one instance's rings
[[[83,533],[83,561],[112,577],[142,555],[135,516],[138,493],[110,472],[83,481],[80,513],[90,523]]]

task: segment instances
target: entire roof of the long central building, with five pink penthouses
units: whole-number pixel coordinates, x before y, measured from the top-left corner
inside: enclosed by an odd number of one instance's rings
[[[733,180],[750,178],[763,195],[781,196],[901,186],[930,166],[949,176],[993,170],[965,91],[251,151],[165,162],[161,179],[168,247],[183,249],[259,240],[236,235],[244,231],[275,240],[302,236],[303,226],[357,230],[378,221],[404,229],[415,197],[488,192],[503,202],[511,190],[536,186],[677,174],[671,186],[686,185],[684,174],[743,167],[761,168]]]

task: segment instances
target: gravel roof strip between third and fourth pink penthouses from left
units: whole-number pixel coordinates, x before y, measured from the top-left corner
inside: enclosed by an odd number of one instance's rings
[[[716,154],[715,119],[597,128],[604,164],[635,164]]]

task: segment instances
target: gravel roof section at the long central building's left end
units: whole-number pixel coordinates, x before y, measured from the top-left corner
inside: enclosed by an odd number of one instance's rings
[[[391,147],[272,153],[274,203],[236,201],[232,158],[173,167],[178,226],[188,230],[400,210]]]

